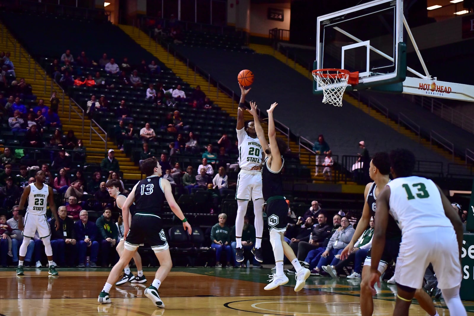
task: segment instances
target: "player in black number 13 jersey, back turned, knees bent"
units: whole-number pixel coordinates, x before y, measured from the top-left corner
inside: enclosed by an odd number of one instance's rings
[[[168,202],[173,213],[181,219],[184,230],[191,235],[191,225],[173,197],[170,183],[161,178],[161,166],[156,158],[148,158],[142,163],[142,171],[146,178],[138,182],[122,205],[124,219],[124,250],[120,260],[110,271],[107,283],[99,294],[99,303],[111,303],[109,291],[117,281],[122,269],[137,252],[138,246],[145,241],[155,252],[160,268],[156,271],[152,285],[144,293],[156,307],[164,308],[164,303],[158,295],[158,288],[173,266],[166,235],[162,228],[161,213],[164,200]],[[130,207],[135,201],[136,213],[129,225]]]

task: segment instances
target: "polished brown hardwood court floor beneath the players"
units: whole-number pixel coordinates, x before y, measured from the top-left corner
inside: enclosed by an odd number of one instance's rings
[[[48,277],[46,269],[25,269],[17,277],[13,269],[0,270],[0,316],[46,315],[360,315],[360,280],[310,276],[306,287],[293,291],[294,274],[285,286],[265,291],[270,269],[173,268],[160,287],[166,306],[156,308],[143,294],[144,284],[113,286],[112,304],[100,305],[97,296],[107,280],[105,269],[58,269]],[[133,271],[133,270],[132,270]],[[147,284],[155,269],[146,268]],[[374,315],[392,315],[394,286],[383,282],[374,300]],[[464,302],[474,315],[474,302]],[[439,315],[449,315],[443,300],[436,300]],[[413,304],[410,315],[427,315]]]

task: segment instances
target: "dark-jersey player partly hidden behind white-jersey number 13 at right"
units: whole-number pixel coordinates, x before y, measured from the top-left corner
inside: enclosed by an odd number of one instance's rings
[[[349,253],[354,249],[359,237],[364,233],[365,228],[369,225],[370,217],[376,216],[376,200],[377,195],[382,192],[383,188],[390,182],[390,160],[388,153],[376,153],[370,161],[369,176],[374,182],[368,183],[365,186],[364,191],[364,209],[362,211],[362,217],[357,223],[356,232],[352,236],[351,242],[344,248],[341,253],[341,260],[345,260]],[[400,250],[401,242],[401,231],[393,217],[389,216],[389,225],[387,225],[386,244],[383,249],[382,260],[379,263],[378,271],[379,276],[387,269],[390,262],[395,261],[398,252]],[[370,250],[367,254],[367,258],[364,262],[364,268],[362,269],[362,281],[360,284],[360,309],[362,316],[370,316],[374,313],[374,300],[372,298],[372,289],[370,286],[370,265],[371,257]],[[430,316],[436,315],[436,309],[433,305],[431,298],[424,291],[417,291],[415,294],[416,298]]]

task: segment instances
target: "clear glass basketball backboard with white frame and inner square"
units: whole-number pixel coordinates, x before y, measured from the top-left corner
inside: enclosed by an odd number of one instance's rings
[[[374,0],[320,16],[317,23],[313,69],[358,71],[359,84],[354,89],[405,80],[403,0]],[[322,92],[316,81],[313,92]]]

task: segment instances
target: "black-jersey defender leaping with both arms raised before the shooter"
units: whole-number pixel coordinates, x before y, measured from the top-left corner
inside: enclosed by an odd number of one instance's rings
[[[282,170],[284,160],[281,153],[285,153],[288,145],[283,141],[283,139],[277,139],[275,136],[276,132],[275,123],[273,121],[273,110],[277,105],[277,103],[273,103],[267,110],[268,143],[265,139],[264,130],[260,125],[255,102],[250,102],[250,110],[247,109],[247,111],[249,111],[254,117],[255,131],[262,148],[267,148],[265,150],[266,157],[262,164],[262,190],[266,201],[266,213],[268,217],[268,226],[270,227],[270,243],[273,247],[276,273],[270,275],[269,281],[271,282],[267,284],[264,289],[275,289],[288,282],[288,278],[283,272],[283,256],[285,255],[288,260],[292,262],[296,270],[296,285],[294,290],[295,292],[298,292],[304,287],[306,279],[310,276],[310,271],[301,267],[301,264],[298,259],[296,259],[296,255],[290,245],[283,241],[283,233],[286,230],[288,204],[286,204],[286,199],[283,197]]]

